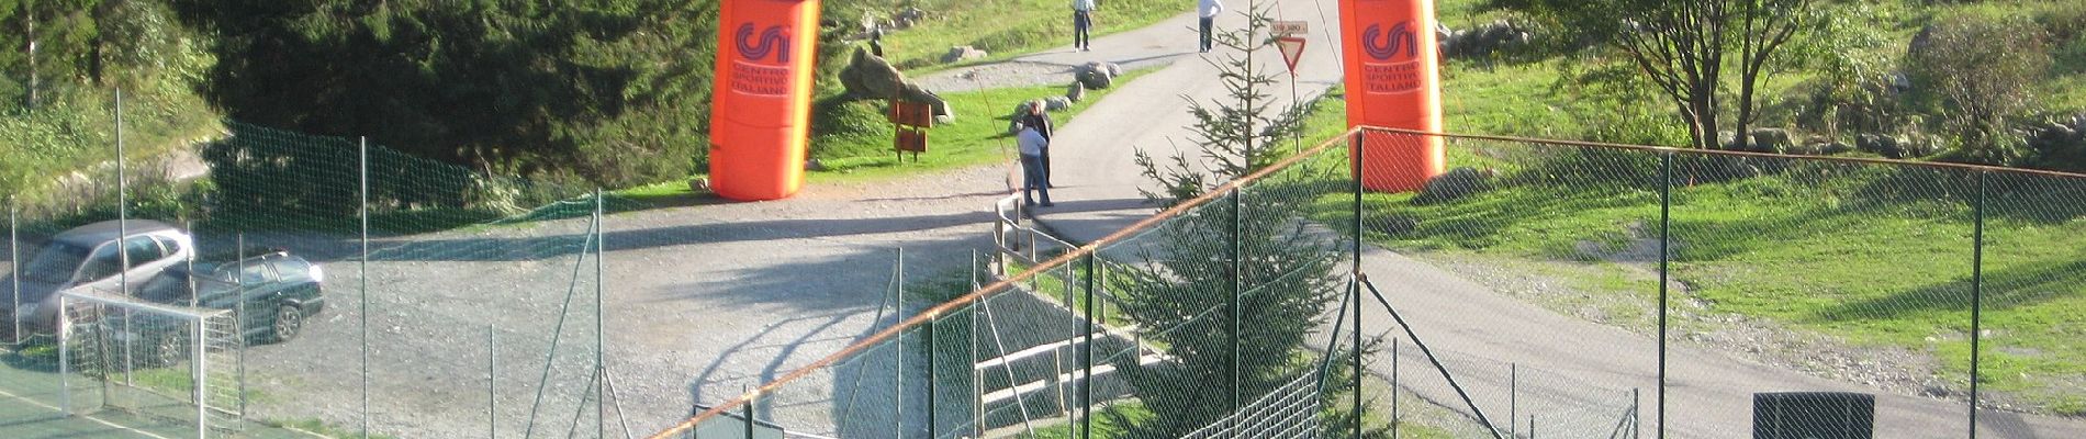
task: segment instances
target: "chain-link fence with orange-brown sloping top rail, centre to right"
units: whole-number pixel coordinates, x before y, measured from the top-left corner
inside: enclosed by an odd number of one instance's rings
[[[1458,166],[1425,189],[1352,177],[1435,141]],[[1005,281],[801,370],[891,364],[887,427],[803,431],[2082,435],[2082,202],[2078,175],[1358,131],[1091,246],[1003,202]],[[822,387],[797,377],[684,427]]]

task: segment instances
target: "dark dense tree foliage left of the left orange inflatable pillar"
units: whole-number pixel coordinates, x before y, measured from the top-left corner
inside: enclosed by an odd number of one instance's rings
[[[715,2],[173,2],[238,121],[607,185],[707,150]]]

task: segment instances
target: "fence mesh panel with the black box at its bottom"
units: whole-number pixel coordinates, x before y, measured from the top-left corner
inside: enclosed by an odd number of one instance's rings
[[[1973,175],[1779,156],[1673,160],[1669,246],[1681,289],[1669,304],[1669,433],[1744,431],[1758,416],[1733,414],[1752,412],[1744,404],[1754,393],[1784,391],[1873,393],[1886,437],[1967,429],[1967,406],[1950,395],[1969,383]],[[1859,422],[1840,410],[1798,416],[1806,420],[1788,429]]]

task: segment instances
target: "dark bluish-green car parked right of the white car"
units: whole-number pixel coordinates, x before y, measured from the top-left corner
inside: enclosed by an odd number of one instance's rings
[[[284,250],[269,250],[234,262],[167,268],[140,287],[136,300],[169,308],[194,304],[200,310],[227,310],[238,316],[242,341],[282,343],[296,339],[305,320],[325,310],[323,283],[325,270],[317,264]],[[136,337],[146,366],[167,366],[188,358],[192,327],[140,314],[131,314],[127,329],[115,325],[104,329],[115,331],[117,341]]]

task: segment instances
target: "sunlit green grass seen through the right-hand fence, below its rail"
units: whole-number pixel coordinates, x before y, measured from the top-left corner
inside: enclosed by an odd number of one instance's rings
[[[1517,152],[1494,156],[1556,154]],[[1448,204],[1368,193],[1366,237],[1623,295],[1610,306],[1648,304],[1642,295],[1656,291],[1646,277],[1656,250],[1635,260],[1623,250],[1658,237],[1658,191],[1623,171],[1652,156],[1558,156],[1602,160],[1567,162],[1587,175],[1554,179],[1535,179],[1556,169],[1529,160],[1489,160],[1506,177],[1487,193]],[[1679,183],[1671,212],[1673,277],[1683,285],[1677,298],[1713,316],[1758,316],[1854,345],[1925,354],[1942,377],[1967,377],[1973,181],[1917,169],[1796,164],[1754,179]],[[2005,191],[2000,200],[2013,202],[1988,210],[1984,254],[1984,329],[1992,331],[1986,389],[2071,412],[2086,372],[2086,345],[2076,343],[2086,325],[2086,210],[2059,200],[2078,185],[2032,181]],[[1339,212],[1345,196],[1320,208]],[[1412,227],[1383,229],[1391,223]],[[1617,314],[1623,327],[1644,327],[1642,312]]]

